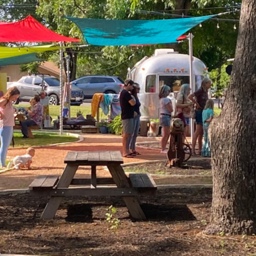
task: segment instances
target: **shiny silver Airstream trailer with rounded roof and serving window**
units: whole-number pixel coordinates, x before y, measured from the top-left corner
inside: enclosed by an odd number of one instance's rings
[[[172,92],[179,91],[184,83],[189,81],[189,55],[179,54],[174,49],[156,49],[152,57],[144,57],[127,76],[138,82],[141,87],[139,99],[141,102],[141,119],[159,118],[159,88],[163,84]],[[193,79],[197,90],[207,68],[198,58],[193,57]]]

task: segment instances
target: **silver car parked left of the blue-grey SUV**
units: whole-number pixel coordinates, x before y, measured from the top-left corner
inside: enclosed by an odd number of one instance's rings
[[[39,94],[44,87],[44,91],[49,96],[49,105],[60,104],[60,80],[51,75],[44,74],[44,84],[42,84],[42,74],[26,75],[21,77],[17,82],[9,83],[8,88],[16,86],[20,91],[20,98],[16,101],[29,101],[34,95]],[[72,86],[71,105],[80,106],[83,100],[82,90]]]

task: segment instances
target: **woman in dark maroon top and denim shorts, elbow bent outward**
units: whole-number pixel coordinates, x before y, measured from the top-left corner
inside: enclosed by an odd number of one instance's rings
[[[194,93],[188,96],[194,104],[196,104],[196,130],[192,140],[192,155],[200,156],[202,152],[202,140],[203,140],[203,118],[202,113],[208,100],[208,89],[211,86],[211,79],[204,77],[201,83],[201,87]],[[198,153],[195,152],[196,141],[198,140]]]

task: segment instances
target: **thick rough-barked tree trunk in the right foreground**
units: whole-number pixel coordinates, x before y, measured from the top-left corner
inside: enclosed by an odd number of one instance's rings
[[[212,212],[207,233],[256,233],[256,1],[243,0],[230,87],[212,121]]]

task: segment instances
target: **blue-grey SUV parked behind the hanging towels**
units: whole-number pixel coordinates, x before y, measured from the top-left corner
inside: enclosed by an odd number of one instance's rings
[[[119,94],[124,81],[118,76],[88,75],[73,80],[72,86],[82,89],[84,99],[92,99],[95,93]]]

